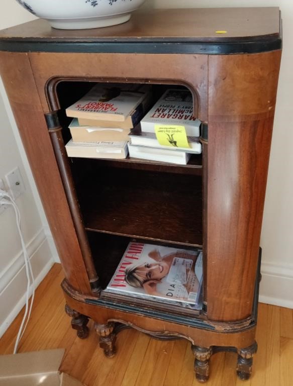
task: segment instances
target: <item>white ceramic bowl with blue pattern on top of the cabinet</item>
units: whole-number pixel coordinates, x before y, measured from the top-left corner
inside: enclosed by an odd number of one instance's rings
[[[125,23],[145,0],[17,0],[52,27],[80,30]]]

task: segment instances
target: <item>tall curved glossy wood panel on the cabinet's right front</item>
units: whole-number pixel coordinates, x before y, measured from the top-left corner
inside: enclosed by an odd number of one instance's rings
[[[272,119],[209,126],[207,298],[212,320],[240,320],[252,311],[271,128]]]

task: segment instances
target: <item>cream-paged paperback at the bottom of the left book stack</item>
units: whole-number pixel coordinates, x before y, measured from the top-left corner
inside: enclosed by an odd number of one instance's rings
[[[127,142],[73,142],[65,145],[68,157],[80,158],[117,158],[127,157]]]

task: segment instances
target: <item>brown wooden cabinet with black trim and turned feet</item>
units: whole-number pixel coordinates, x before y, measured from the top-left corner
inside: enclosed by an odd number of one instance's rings
[[[84,31],[37,20],[1,32],[1,75],[65,272],[66,311],[82,338],[95,321],[106,356],[127,326],[188,339],[201,381],[220,350],[237,352],[239,377],[250,376],[279,31],[277,8],[245,8],[149,11]],[[64,110],[93,82],[189,88],[203,154],[186,166],[68,159]],[[103,295],[133,238],[203,247],[200,315]]]

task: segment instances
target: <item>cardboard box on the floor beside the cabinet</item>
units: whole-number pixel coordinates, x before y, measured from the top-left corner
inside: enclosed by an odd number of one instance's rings
[[[59,367],[65,350],[0,355],[0,386],[83,386]]]

